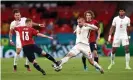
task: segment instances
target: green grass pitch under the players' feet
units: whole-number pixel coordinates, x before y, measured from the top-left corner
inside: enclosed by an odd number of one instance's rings
[[[61,72],[55,72],[51,67],[51,62],[44,58],[38,58],[37,61],[46,71],[46,76],[34,69],[32,65],[32,71],[26,71],[25,59],[19,59],[17,72],[13,72],[13,58],[1,59],[2,80],[133,80],[133,57],[130,61],[132,70],[125,70],[124,57],[116,57],[115,65],[111,70],[107,70],[110,63],[109,58],[101,57],[100,64],[103,66],[105,74],[100,74],[91,65],[89,65],[89,71],[85,72],[80,58],[71,59],[64,64]]]

